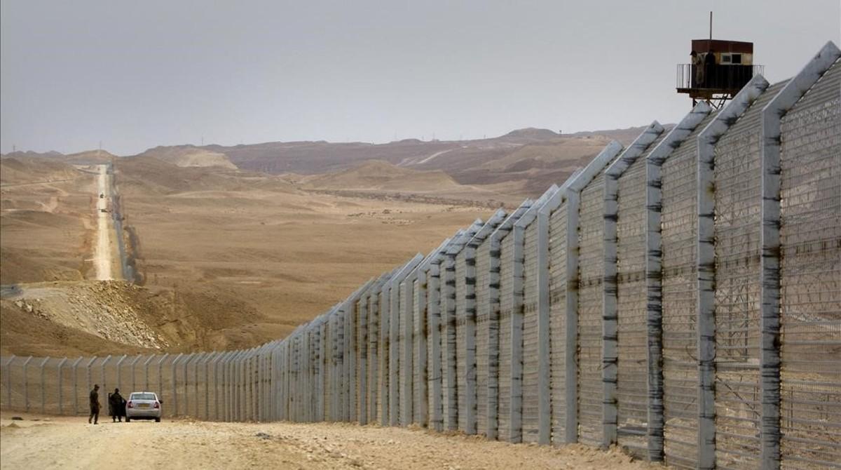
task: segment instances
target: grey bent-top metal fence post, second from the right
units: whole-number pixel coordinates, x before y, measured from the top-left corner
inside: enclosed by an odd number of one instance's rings
[[[698,467],[716,466],[715,145],[768,82],[756,75],[698,136]]]

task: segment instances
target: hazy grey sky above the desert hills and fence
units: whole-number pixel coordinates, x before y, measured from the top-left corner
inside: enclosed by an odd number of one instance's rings
[[[709,10],[772,83],[841,44],[838,0],[0,4],[3,152],[675,122]]]

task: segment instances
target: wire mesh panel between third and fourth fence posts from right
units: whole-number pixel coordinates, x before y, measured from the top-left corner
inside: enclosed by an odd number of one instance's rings
[[[649,150],[666,134],[661,133]],[[640,458],[648,456],[647,157],[644,152],[621,174],[616,195],[616,439]]]

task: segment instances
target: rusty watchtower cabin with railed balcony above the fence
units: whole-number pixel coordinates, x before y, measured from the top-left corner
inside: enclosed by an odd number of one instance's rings
[[[692,40],[690,60],[678,64],[677,91],[689,94],[693,106],[720,108],[764,68],[754,65],[754,43],[738,40]]]

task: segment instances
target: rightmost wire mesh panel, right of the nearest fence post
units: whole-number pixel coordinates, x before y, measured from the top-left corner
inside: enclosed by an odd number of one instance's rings
[[[841,62],[783,116],[783,468],[841,467]]]

